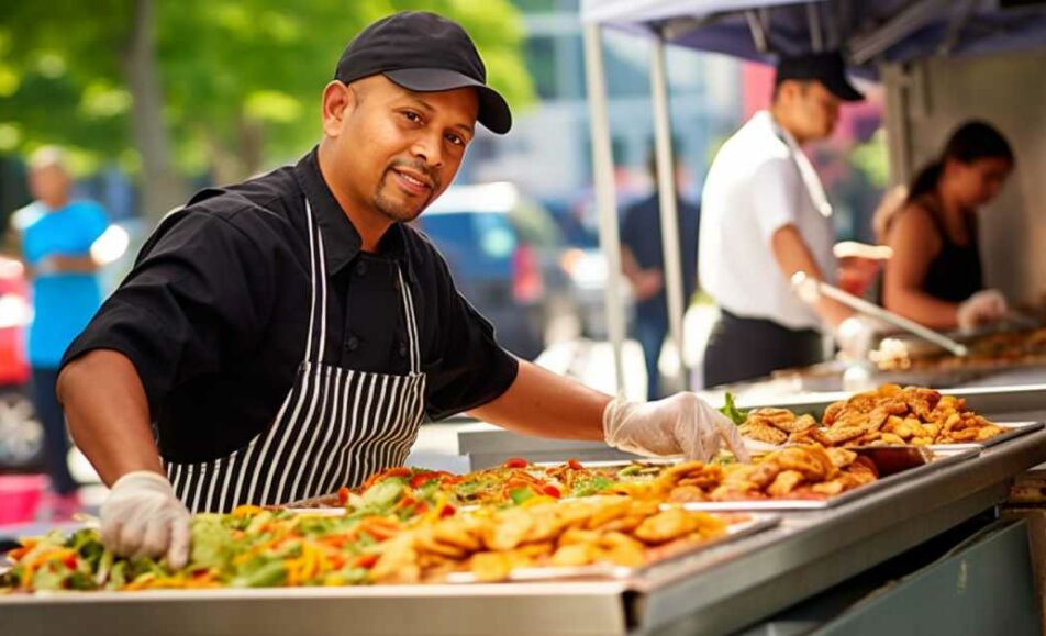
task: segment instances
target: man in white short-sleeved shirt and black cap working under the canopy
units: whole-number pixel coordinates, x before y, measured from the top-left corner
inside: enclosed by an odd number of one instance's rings
[[[832,205],[801,146],[827,138],[839,103],[860,99],[837,52],[783,58],[770,109],[715,156],[698,249],[701,287],[721,313],[704,354],[705,386],[817,362],[822,331],[859,339],[852,328],[859,324],[839,330],[850,317],[846,308],[808,304],[790,281],[798,271],[834,279]]]

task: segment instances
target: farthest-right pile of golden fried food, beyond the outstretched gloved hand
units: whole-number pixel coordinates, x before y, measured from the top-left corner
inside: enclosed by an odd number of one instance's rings
[[[769,444],[826,447],[961,444],[984,442],[1004,432],[966,405],[966,400],[933,389],[883,384],[825,409],[819,425],[810,415],[786,409],[755,409],[742,435]]]

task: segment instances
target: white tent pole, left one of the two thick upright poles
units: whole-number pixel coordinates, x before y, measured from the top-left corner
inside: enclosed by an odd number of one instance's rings
[[[607,113],[607,76],[603,70],[602,31],[599,24],[585,24],[585,77],[588,87],[589,120],[592,136],[592,177],[596,210],[599,214],[599,243],[607,259],[607,289],[603,295],[607,331],[614,352],[617,397],[625,397],[622,347],[625,315],[621,302],[621,245],[617,231],[617,194],[614,191],[614,157]]]

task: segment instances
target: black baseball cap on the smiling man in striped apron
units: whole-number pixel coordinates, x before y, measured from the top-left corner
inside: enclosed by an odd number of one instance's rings
[[[419,92],[475,87],[479,123],[498,134],[512,127],[508,102],[487,86],[487,67],[472,38],[453,20],[427,11],[382,18],[348,43],[334,79],[349,83],[379,72]]]

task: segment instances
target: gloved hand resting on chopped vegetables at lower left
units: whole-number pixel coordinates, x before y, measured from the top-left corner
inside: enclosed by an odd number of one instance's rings
[[[189,560],[189,511],[163,475],[129,472],[102,504],[102,544],[122,557],[167,555],[167,565]]]

